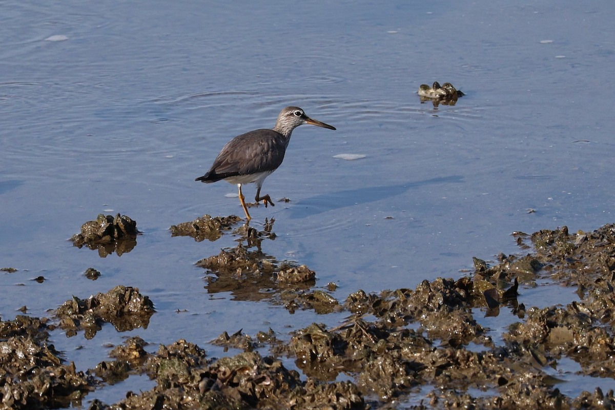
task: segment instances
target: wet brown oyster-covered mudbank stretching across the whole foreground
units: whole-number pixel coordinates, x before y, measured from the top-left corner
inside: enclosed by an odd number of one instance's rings
[[[304,286],[314,280],[311,275],[298,282],[280,280],[279,272],[288,266],[309,268],[264,254],[258,239],[272,239],[271,233],[252,232],[256,242],[200,261],[209,286],[224,281],[239,289],[254,282],[247,278],[260,277],[257,286],[271,290],[261,292],[269,295],[264,299],[320,314],[327,313],[322,306],[345,311],[344,323],[333,328],[312,323],[291,334],[224,332],[212,344],[243,352],[218,359],[183,339],[149,353],[146,341],[131,337],[108,361],[77,372],[48,342],[56,326],[68,335],[84,331],[94,337],[92,329],[104,323],[124,331],[147,326],[146,318],[154,314],[146,296],[117,286],[107,294],[66,301],[55,312],[55,324],[23,316],[0,322],[2,406],[75,406],[101,385],[147,374],[156,380],[151,390],[129,392],[115,404],[95,400],[90,409],[615,407],[613,390],[569,397],[546,371],[567,358],[584,375],[615,379],[614,225],[574,234],[566,227],[517,232],[526,254],[501,254],[493,266],[475,258],[475,272],[458,280],[426,280],[415,290],[357,290],[345,301],[326,288],[312,290],[313,283]],[[538,280],[574,286],[579,300],[531,307],[523,288]],[[496,344],[476,315],[514,315],[515,323]],[[289,358],[303,374],[284,365],[282,359]]]

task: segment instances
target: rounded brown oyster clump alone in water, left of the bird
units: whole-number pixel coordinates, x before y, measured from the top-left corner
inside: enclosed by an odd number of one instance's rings
[[[71,241],[77,248],[87,246],[98,250],[101,258],[115,252],[117,256],[128,253],[137,246],[137,222],[126,215],[116,216],[100,214],[95,221],[88,221],[81,226],[81,233],[73,235]]]

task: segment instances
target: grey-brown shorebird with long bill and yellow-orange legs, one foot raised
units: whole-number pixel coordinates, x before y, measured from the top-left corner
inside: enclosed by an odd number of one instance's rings
[[[303,124],[335,130],[331,125],[306,116],[299,107],[284,108],[277,116],[276,126],[273,129],[261,128],[236,136],[220,151],[207,173],[194,180],[212,183],[224,179],[228,183],[237,184],[241,206],[250,222],[252,217],[248,213],[245,197],[241,192],[242,184],[256,183],[256,204],[263,201],[265,207],[268,204],[274,207],[275,204],[269,195],[261,197],[263,181],[282,164],[290,135],[296,127]]]

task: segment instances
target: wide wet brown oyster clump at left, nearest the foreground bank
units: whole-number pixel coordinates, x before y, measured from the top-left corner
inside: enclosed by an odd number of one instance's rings
[[[66,336],[83,330],[85,338],[92,339],[104,323],[111,323],[119,332],[146,329],[154,312],[154,304],[137,288],[119,285],[87,299],[73,296],[55,310],[54,317],[60,320]]]

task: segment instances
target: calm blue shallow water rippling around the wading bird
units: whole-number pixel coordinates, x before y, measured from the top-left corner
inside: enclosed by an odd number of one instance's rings
[[[263,187],[290,202],[253,208],[253,224],[275,218],[263,252],[307,264],[317,286],[338,284],[339,299],[459,277],[472,256],[519,252],[514,231],[613,220],[609,2],[245,6],[3,4],[0,267],[19,270],[0,274],[0,315],[23,305],[47,315],[119,283],[158,311],[129,335],[56,334],[77,369],[134,334],[183,337],[216,355],[207,342],[224,330],[271,326],[284,337],[288,326],[342,320],[208,294],[194,262],[234,238],[168,231],[205,213],[242,215],[225,196],[236,187],[194,178],[232,136],[271,127],[287,105],[338,130],[295,130]],[[421,103],[416,90],[433,81],[467,95]],[[98,213],[117,212],[143,231],[132,252],[101,259],[68,242]],[[88,267],[97,281],[82,276]],[[526,306],[560,302],[557,290],[521,293]],[[90,396],[107,401],[104,390]]]

